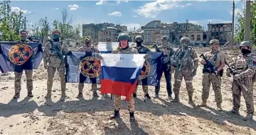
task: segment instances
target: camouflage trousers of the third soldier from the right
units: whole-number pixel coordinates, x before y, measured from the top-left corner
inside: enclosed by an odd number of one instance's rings
[[[182,79],[184,78],[185,83],[186,83],[186,89],[188,90],[188,98],[191,98],[192,100],[192,96],[193,96],[193,85],[192,85],[192,80],[193,80],[193,76],[192,76],[192,70],[181,70],[181,71],[175,71],[174,73],[174,94],[175,97],[178,98],[179,96],[179,91],[181,88],[181,82]]]

